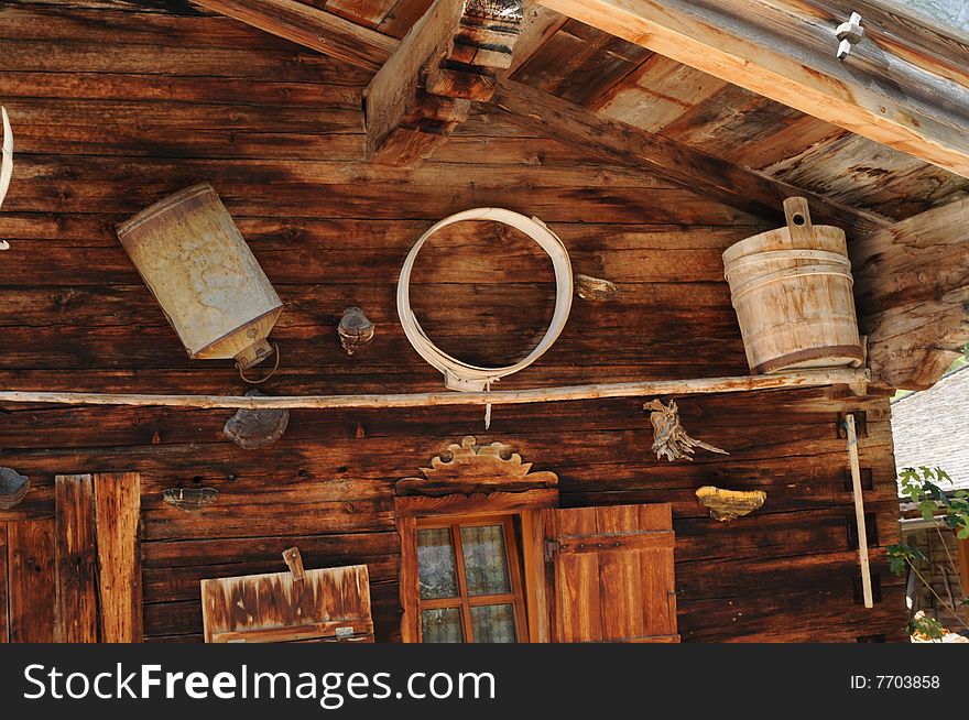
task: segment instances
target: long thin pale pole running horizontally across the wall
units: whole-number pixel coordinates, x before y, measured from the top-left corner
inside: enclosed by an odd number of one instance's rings
[[[868,384],[865,370],[804,370],[773,375],[706,378],[698,380],[652,380],[594,385],[566,385],[535,390],[499,392],[439,392],[370,395],[149,395],[134,393],[0,391],[3,403],[44,403],[57,405],[134,405],[142,407],[202,407],[214,410],[295,410],[340,407],[431,407],[439,405],[522,405],[529,403],[595,400],[600,397],[642,397],[651,395],[693,395],[737,393],[781,388],[820,388],[847,384],[863,394]]]

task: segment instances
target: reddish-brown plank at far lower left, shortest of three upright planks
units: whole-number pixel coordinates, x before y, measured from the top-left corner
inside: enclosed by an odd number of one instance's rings
[[[57,606],[54,519],[7,524],[10,642],[54,642]]]

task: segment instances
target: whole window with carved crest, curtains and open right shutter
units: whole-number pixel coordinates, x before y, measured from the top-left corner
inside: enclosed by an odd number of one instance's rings
[[[394,486],[404,642],[679,642],[669,504],[558,506],[500,443]]]

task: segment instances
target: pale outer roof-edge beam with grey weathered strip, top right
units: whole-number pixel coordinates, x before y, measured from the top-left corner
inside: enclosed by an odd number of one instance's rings
[[[969,177],[965,69],[944,67],[928,53],[916,56],[880,36],[878,28],[839,61],[834,31],[848,18],[835,18],[820,0],[538,2]],[[864,25],[864,9],[858,11]]]

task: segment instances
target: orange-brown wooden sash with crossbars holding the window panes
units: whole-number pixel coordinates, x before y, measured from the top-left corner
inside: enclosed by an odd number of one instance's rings
[[[421,598],[420,588],[417,593],[417,634],[420,642],[424,642],[422,623],[420,618],[424,610],[438,610],[442,608],[458,608],[461,611],[461,630],[466,643],[475,642],[475,633],[471,623],[471,608],[482,606],[510,604],[514,608],[515,642],[527,642],[529,624],[525,612],[525,587],[522,578],[522,556],[519,552],[519,542],[514,527],[514,515],[450,515],[444,517],[418,517],[415,532],[420,530],[446,528],[450,533],[451,552],[455,560],[455,579],[458,586],[458,596],[455,598],[434,598],[424,600]],[[465,567],[461,528],[484,527],[500,525],[503,535],[504,560],[508,567],[508,580],[510,592],[493,594],[470,594]],[[420,568],[418,568],[420,571]]]

